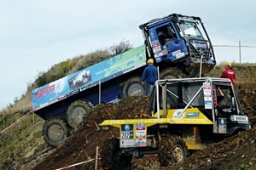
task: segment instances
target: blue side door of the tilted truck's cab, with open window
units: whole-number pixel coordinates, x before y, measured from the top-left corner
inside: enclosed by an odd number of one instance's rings
[[[157,62],[182,59],[187,48],[172,23],[164,23],[149,29],[151,47]]]

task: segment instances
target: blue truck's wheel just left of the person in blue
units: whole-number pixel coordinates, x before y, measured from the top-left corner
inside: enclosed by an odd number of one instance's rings
[[[140,77],[131,77],[125,82],[123,88],[123,98],[129,96],[141,96],[145,94],[145,88],[143,87]]]

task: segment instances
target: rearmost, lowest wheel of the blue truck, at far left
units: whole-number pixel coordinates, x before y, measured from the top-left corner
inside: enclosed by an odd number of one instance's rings
[[[67,122],[61,118],[51,118],[44,122],[43,136],[47,144],[57,147],[62,144],[69,135]]]

